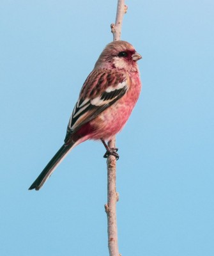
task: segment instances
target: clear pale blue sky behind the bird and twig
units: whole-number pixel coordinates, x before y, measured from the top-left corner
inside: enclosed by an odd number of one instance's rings
[[[119,252],[214,255],[214,2],[126,1],[121,39],[142,93],[117,136]],[[108,255],[105,150],[61,147],[79,90],[111,42],[116,1],[1,0],[0,255]]]

